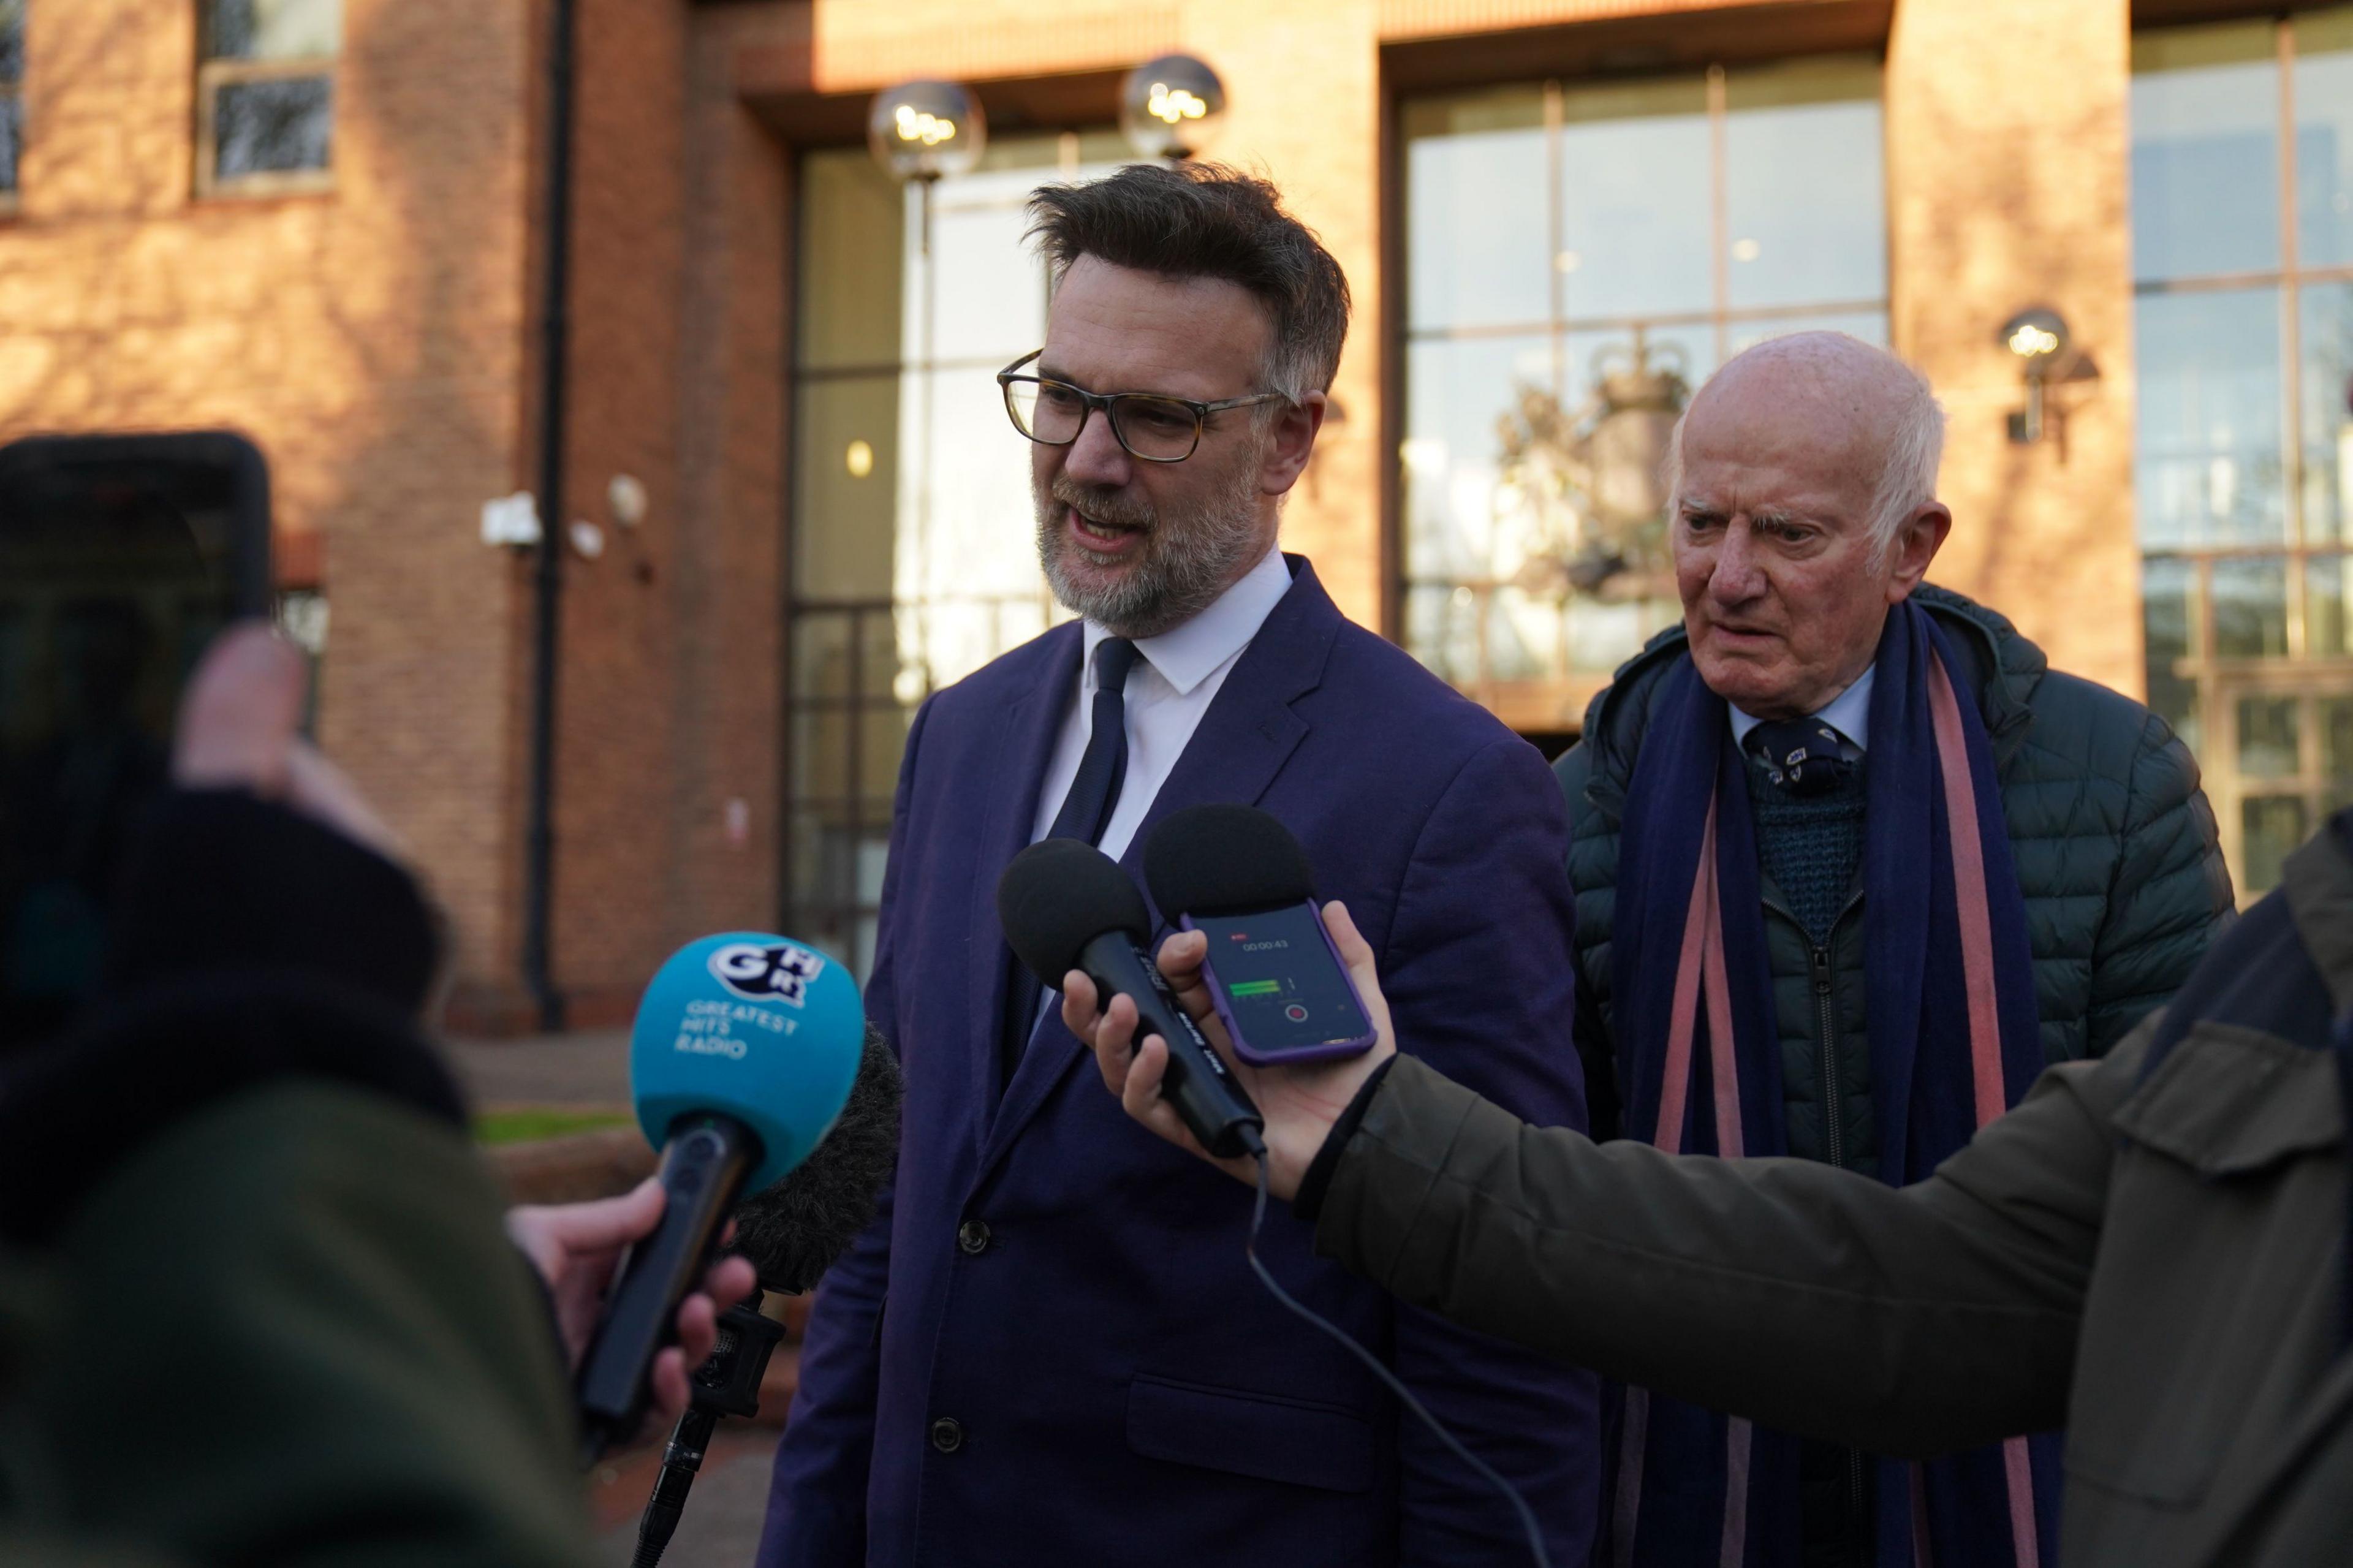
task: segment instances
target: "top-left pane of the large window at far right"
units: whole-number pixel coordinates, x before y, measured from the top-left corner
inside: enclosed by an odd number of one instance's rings
[[[2132,40],[2132,275],[2280,264],[2280,68],[2273,26]]]

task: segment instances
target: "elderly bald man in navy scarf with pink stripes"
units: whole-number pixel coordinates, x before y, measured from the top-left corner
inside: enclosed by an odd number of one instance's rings
[[[1682,626],[1558,763],[1595,1135],[1915,1182],[2231,918],[2165,720],[1925,584],[1941,450],[1927,381],[1838,332],[1741,353],[1675,428]],[[1595,1561],[2057,1549],[2047,1436],[1901,1464],[1628,1389],[1612,1450]]]

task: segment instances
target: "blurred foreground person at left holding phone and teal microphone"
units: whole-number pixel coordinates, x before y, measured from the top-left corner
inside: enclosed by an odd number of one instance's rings
[[[219,640],[106,998],[0,1062],[9,1563],[591,1561],[565,1366],[661,1189],[501,1217],[416,1022],[428,906],[301,699],[296,650]],[[680,1307],[664,1417],[751,1274]]]

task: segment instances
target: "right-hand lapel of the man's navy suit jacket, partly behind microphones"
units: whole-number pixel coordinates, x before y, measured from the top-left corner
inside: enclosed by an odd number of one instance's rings
[[[1144,841],[1174,810],[1205,805],[1212,800],[1257,805],[1266,789],[1282,772],[1282,763],[1308,735],[1308,723],[1292,711],[1292,702],[1315,690],[1322,680],[1325,659],[1339,636],[1339,607],[1315,582],[1315,570],[1304,556],[1294,563],[1292,586],[1249,640],[1240,664],[1226,673],[1209,711],[1200,716],[1200,727],[1186,742],[1184,756],[1169,772],[1151,810],[1136,824],[1136,836],[1127,843],[1120,866],[1144,885]],[[1040,763],[1042,768],[1042,763]],[[1031,786],[1035,796],[1035,784]],[[1031,808],[1035,812],[1035,805]],[[1024,819],[1028,822],[1028,819]],[[1026,831],[1026,829],[1024,829]],[[1007,855],[1009,859],[1009,855]],[[1002,862],[1000,862],[1002,864]],[[1151,895],[1146,895],[1151,897]],[[1153,911],[1160,918],[1160,911]],[[995,909],[991,906],[991,930]],[[1000,937],[1002,942],[1002,937]],[[1158,937],[1155,937],[1158,946]],[[1002,1001],[998,1012],[1002,1015]],[[1047,1010],[1031,1031],[1028,1050],[1014,1081],[1005,1085],[1005,1102],[981,1144],[979,1180],[1005,1158],[1021,1128],[1047,1102],[1064,1074],[1078,1067],[1085,1048],[1061,1024],[1061,1015]]]

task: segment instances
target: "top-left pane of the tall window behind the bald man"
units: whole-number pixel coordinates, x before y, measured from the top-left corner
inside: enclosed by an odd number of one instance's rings
[[[1407,325],[1544,323],[1544,92],[1405,106]]]

